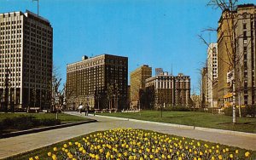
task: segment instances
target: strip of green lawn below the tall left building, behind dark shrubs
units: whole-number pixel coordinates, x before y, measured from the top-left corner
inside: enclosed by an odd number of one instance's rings
[[[20,116],[32,116],[37,119],[55,119],[55,113],[0,113],[0,122],[3,121],[6,117],[20,117]],[[79,121],[88,120],[86,117],[72,116],[65,113],[58,113],[58,119],[61,120],[61,123],[75,123]]]

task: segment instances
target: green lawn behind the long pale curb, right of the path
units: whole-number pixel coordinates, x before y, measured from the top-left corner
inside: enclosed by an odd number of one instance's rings
[[[175,123],[196,127],[235,130],[248,133],[256,133],[256,118],[237,117],[236,124],[233,125],[232,117],[224,115],[212,115],[212,113],[198,111],[141,111],[139,112],[116,112],[97,113],[98,115],[110,117],[126,117],[145,121],[160,123]]]

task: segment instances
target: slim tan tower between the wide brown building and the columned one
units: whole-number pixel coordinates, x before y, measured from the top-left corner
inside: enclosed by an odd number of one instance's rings
[[[131,72],[131,108],[137,108],[140,91],[145,89],[148,77],[152,77],[152,68],[148,65],[140,66]]]

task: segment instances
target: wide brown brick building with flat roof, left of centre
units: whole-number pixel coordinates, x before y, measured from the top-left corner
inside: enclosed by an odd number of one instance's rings
[[[128,58],[102,54],[67,65],[67,106],[124,109],[127,102]]]

